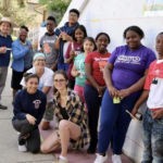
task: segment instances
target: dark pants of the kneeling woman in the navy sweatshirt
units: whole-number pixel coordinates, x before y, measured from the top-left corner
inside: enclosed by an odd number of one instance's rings
[[[20,131],[18,143],[26,143],[27,151],[40,151],[40,134],[37,125],[30,125],[27,120],[12,121],[15,130]]]

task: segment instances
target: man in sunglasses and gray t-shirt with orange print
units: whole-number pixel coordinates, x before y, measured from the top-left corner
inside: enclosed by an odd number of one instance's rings
[[[54,48],[54,42],[57,40],[57,35],[54,28],[57,26],[57,21],[53,16],[47,18],[47,33],[40,39],[41,51],[46,54],[46,66],[52,71],[57,70],[57,50]]]

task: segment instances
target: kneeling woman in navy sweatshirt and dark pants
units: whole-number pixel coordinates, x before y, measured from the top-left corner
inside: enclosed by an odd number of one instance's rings
[[[40,151],[40,134],[38,125],[46,110],[46,95],[38,90],[39,77],[26,74],[26,88],[17,92],[14,102],[13,127],[20,131],[18,151]]]

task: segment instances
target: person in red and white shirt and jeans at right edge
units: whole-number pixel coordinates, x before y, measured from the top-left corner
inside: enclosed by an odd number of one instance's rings
[[[159,59],[151,63],[145,90],[131,112],[135,115],[148,98],[148,109],[143,115],[145,150],[141,163],[163,162],[163,33],[156,37],[155,49]]]

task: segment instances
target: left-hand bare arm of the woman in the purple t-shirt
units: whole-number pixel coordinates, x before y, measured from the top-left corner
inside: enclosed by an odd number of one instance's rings
[[[112,97],[117,97],[118,90],[112,84],[112,71],[113,71],[113,64],[108,62],[105,67],[104,67],[104,71],[103,71],[103,78],[104,78],[106,88],[109,90],[109,93]]]

